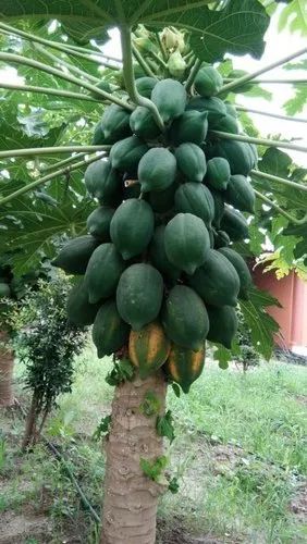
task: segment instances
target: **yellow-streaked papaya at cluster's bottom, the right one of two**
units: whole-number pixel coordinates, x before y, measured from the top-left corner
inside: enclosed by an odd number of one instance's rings
[[[163,369],[170,380],[177,383],[184,393],[188,393],[193,382],[200,376],[204,364],[205,345],[194,351],[173,344]]]

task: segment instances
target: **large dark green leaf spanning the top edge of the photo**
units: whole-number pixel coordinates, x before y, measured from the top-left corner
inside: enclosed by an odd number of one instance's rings
[[[101,37],[106,27],[121,24],[161,27],[173,25],[192,33],[196,54],[216,61],[229,51],[261,57],[269,16],[258,0],[232,0],[222,11],[206,5],[209,0],[2,0],[3,18],[58,18],[78,40]]]

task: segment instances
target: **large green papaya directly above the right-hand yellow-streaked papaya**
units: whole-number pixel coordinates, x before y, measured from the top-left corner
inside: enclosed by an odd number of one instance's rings
[[[175,285],[163,305],[161,321],[167,336],[177,346],[198,350],[209,330],[201,298],[186,285]]]

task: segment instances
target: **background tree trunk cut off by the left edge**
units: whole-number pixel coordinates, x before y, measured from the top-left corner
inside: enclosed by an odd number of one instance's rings
[[[10,347],[10,334],[0,331],[0,406],[12,406],[14,354]]]

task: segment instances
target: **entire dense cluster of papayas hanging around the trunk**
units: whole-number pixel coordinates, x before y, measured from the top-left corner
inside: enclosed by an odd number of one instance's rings
[[[216,96],[222,83],[212,66],[199,71],[192,96],[175,79],[136,79],[163,131],[147,108],[105,110],[94,143],[112,147],[85,172],[99,207],[88,234],[54,261],[82,276],[69,317],[94,323],[98,357],[128,346],[140,378],[163,366],[186,393],[202,370],[206,338],[231,347],[237,299],[251,286],[231,244],[248,237],[242,212],[254,211],[247,175],[257,151],[214,136],[240,132],[235,109]]]

